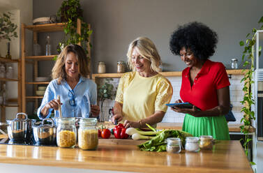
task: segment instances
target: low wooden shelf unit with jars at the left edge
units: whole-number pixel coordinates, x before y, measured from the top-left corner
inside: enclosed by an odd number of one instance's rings
[[[0,63],[10,64],[10,63],[17,63],[17,79],[13,78],[0,78],[1,87],[0,91],[3,88],[3,84],[6,84],[6,82],[17,82],[17,98],[9,98],[6,100],[6,105],[0,105],[1,109],[1,119],[0,122],[6,121],[6,107],[17,107],[17,111],[20,112],[22,108],[22,100],[20,98],[21,95],[21,74],[20,74],[20,59],[6,59],[3,57],[0,57]],[[14,75],[14,74],[13,74]],[[7,89],[8,90],[8,89]]]

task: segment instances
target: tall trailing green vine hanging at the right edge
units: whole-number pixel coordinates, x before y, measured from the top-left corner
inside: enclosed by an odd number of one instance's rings
[[[263,23],[263,16],[260,18],[260,21],[258,22]],[[260,27],[260,29],[263,29],[263,25]],[[243,112],[243,118],[241,119],[241,123],[243,122],[243,125],[240,126],[241,133],[245,135],[245,139],[241,139],[243,141],[243,147],[245,148],[246,156],[248,156],[248,144],[252,140],[249,133],[249,128],[251,126],[251,122],[255,120],[255,112],[251,110],[251,106],[255,105],[255,100],[253,99],[253,93],[251,85],[254,83],[253,80],[253,73],[255,71],[255,44],[256,44],[256,33],[257,29],[252,29],[252,33],[248,33],[246,36],[246,41],[240,41],[239,45],[244,47],[242,52],[242,61],[243,61],[243,67],[248,68],[246,72],[244,73],[244,77],[241,80],[243,82],[243,91],[244,96],[241,103],[244,105],[241,109],[241,112]],[[260,47],[260,54],[261,54],[262,47]],[[255,165],[255,163],[250,162],[251,165]]]

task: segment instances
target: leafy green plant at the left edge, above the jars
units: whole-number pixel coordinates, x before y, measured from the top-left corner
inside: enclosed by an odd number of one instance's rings
[[[0,15],[0,41],[2,39],[10,41],[12,37],[17,38],[17,32],[15,31],[17,24],[11,22],[11,15],[10,12]]]

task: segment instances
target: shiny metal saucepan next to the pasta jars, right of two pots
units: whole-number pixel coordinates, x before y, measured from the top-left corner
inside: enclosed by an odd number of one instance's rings
[[[45,124],[50,121],[52,124]],[[42,125],[33,126],[33,138],[38,144],[54,145],[57,142],[57,128],[52,119],[43,119]]]

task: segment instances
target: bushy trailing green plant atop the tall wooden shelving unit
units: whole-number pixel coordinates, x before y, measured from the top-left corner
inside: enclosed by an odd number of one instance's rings
[[[81,43],[86,54],[89,53],[87,43],[89,43],[89,36],[92,31],[89,30],[88,24],[83,22],[82,13],[83,10],[80,6],[80,0],[65,0],[61,3],[57,15],[61,17],[61,22],[66,23],[66,27],[64,28],[66,34],[64,40],[59,43],[59,46],[57,47],[58,52],[61,51],[61,45],[66,46]],[[81,34],[77,33],[77,19],[82,21]]]

